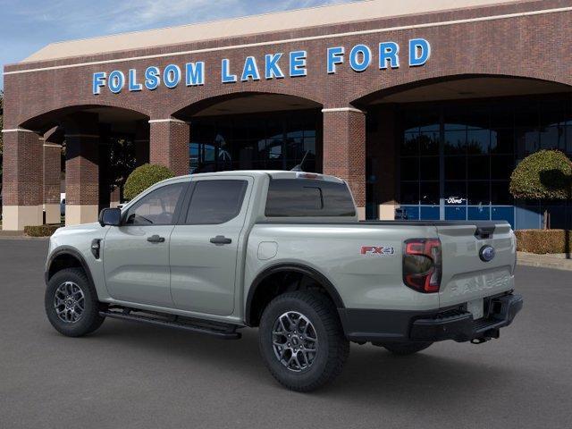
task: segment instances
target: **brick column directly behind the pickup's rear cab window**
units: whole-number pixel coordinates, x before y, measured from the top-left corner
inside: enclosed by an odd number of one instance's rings
[[[324,174],[349,184],[357,214],[366,217],[366,114],[353,107],[325,108]]]

